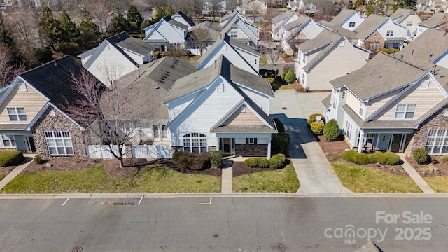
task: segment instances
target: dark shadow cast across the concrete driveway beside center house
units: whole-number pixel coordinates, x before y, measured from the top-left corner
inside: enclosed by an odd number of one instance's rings
[[[294,108],[295,109],[295,108]],[[307,119],[288,118],[284,113],[272,114],[271,118],[279,118],[285,126],[285,133],[289,134],[289,156],[290,158],[305,159],[302,144],[315,142],[316,138],[308,127]]]

